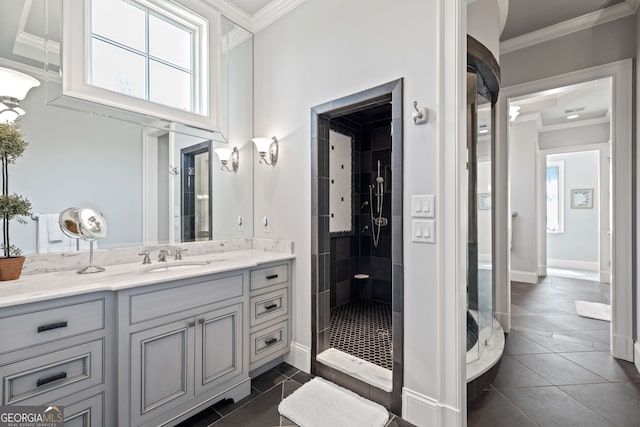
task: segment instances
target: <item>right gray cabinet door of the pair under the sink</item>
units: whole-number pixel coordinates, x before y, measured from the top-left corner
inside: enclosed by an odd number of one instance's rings
[[[197,319],[196,393],[243,372],[242,304],[211,311]]]

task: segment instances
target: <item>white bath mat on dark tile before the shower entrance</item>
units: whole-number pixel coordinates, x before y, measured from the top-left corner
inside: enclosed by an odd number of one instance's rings
[[[316,377],[280,402],[278,411],[301,427],[383,427],[387,410]]]

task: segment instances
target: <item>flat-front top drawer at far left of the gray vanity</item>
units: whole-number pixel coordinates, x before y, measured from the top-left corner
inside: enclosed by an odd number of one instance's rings
[[[104,322],[103,299],[0,317],[0,353],[104,329]]]

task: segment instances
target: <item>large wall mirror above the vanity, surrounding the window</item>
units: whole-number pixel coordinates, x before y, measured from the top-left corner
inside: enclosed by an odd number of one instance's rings
[[[8,2],[0,16],[0,66],[41,82],[20,104],[26,115],[17,124],[29,146],[14,165],[12,189],[29,198],[33,211],[43,216],[68,206],[94,206],[110,225],[98,248],[179,243],[184,238],[182,177],[188,173],[183,149],[204,143],[235,146],[241,159],[237,172],[221,170],[220,159],[213,150],[209,154],[208,194],[200,194],[201,200],[206,196],[210,201],[207,238],[252,237],[252,34],[222,18],[219,97],[224,138],[212,137],[179,123],[100,110],[86,102],[59,102],[61,5],[59,0]],[[38,233],[46,232],[44,222],[12,228],[24,254],[36,253]],[[44,246],[40,252],[55,251],[55,245],[51,250]]]

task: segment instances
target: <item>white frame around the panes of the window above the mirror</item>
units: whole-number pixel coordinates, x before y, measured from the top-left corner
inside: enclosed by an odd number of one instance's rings
[[[183,17],[181,24],[194,30],[193,106],[189,112],[89,84],[91,16],[90,0],[64,0],[62,4],[62,93],[111,107],[209,131],[220,126],[220,12],[199,0],[135,0],[158,14]],[[166,12],[165,12],[166,11]],[[163,13],[164,12],[164,13]],[[189,13],[191,12],[191,13]],[[197,17],[194,16],[198,15]]]

